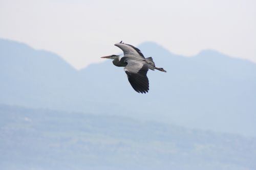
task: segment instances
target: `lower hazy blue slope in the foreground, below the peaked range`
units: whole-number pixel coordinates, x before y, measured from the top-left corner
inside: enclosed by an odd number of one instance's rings
[[[256,139],[0,105],[2,169],[256,169]]]

